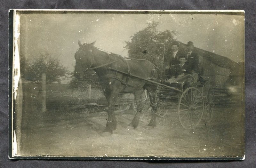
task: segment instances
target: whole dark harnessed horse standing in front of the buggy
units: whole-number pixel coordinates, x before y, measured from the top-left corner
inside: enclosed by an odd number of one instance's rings
[[[149,104],[153,111],[148,126],[155,127],[158,105],[156,84],[143,80],[157,81],[155,66],[148,60],[123,58],[120,55],[106,52],[95,47],[95,42],[81,44],[78,41],[79,49],[75,53],[74,76],[83,78],[84,72],[88,69],[93,69],[98,75],[99,84],[108,101],[108,121],[104,132],[113,133],[116,130],[117,121],[114,109],[120,92],[134,94],[137,112],[129,126],[136,128],[143,115],[143,93],[147,90]]]

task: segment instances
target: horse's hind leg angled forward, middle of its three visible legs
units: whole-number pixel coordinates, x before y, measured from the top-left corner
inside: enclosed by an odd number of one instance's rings
[[[143,93],[144,93],[143,89],[134,92],[134,97],[135,97],[135,101],[136,101],[136,105],[137,105],[137,110],[136,110],[136,115],[132,119],[131,124],[129,124],[129,126],[132,126],[134,128],[138,127],[139,121],[140,121],[140,116],[142,115]]]

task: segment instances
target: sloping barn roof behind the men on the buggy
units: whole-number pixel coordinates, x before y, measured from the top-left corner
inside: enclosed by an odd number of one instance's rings
[[[185,49],[187,44],[180,43],[180,47]],[[199,54],[199,56],[204,57],[205,59],[211,61],[212,63],[228,69],[234,69],[236,67],[236,62],[233,60],[230,60],[227,57],[223,57],[221,55],[215,54],[213,52],[209,52],[200,48],[195,47],[194,51]]]

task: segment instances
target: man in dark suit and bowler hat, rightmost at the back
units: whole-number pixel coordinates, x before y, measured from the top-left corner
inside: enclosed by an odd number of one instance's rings
[[[188,64],[188,70],[191,74],[197,73],[198,74],[198,65],[199,65],[199,57],[194,50],[194,44],[192,41],[189,41],[187,44],[187,64]]]

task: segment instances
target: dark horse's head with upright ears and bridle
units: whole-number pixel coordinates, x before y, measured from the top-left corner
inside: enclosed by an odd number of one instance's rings
[[[94,41],[91,44],[81,44],[80,41],[78,41],[79,49],[75,53],[75,59],[76,59],[76,66],[75,66],[75,77],[77,78],[83,78],[84,71],[88,68],[92,68],[92,51],[95,48],[94,44],[96,41]]]

